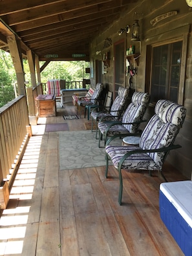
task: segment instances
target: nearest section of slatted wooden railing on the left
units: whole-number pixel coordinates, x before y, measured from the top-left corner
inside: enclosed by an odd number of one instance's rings
[[[28,124],[25,96],[18,96],[0,108],[0,182],[8,180],[8,187],[12,186],[27,144]]]

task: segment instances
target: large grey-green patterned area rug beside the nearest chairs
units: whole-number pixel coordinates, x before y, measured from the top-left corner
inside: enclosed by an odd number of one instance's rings
[[[91,131],[66,131],[59,133],[59,158],[60,170],[103,166],[105,148]]]

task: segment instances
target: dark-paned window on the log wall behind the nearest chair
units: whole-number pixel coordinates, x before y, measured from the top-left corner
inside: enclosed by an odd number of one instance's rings
[[[151,102],[178,102],[182,41],[152,48]]]

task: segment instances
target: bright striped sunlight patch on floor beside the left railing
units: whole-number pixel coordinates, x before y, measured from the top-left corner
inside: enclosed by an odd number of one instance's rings
[[[30,138],[10,191],[8,207],[1,215],[0,255],[17,255],[23,251],[42,139],[43,136]]]

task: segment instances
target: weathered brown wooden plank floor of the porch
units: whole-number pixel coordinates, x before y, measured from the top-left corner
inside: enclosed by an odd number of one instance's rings
[[[58,109],[47,123],[63,122],[74,107]],[[65,121],[70,131],[86,119]],[[38,126],[38,125],[37,125]],[[41,125],[39,125],[39,128]],[[123,172],[123,205],[118,204],[118,173],[110,167],[59,171],[58,134],[30,138],[0,219],[0,255],[85,256],[183,255],[159,214],[159,185],[153,173]],[[98,142],[96,142],[98,143]],[[169,181],[186,180],[165,164]]]

